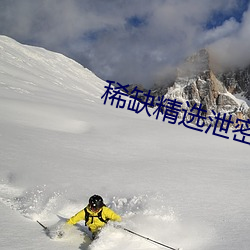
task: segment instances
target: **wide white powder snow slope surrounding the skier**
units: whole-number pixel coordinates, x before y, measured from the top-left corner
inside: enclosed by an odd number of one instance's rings
[[[184,250],[248,250],[246,144],[103,105],[106,83],[63,55],[0,36],[0,249],[162,249],[108,225],[50,239],[100,194],[122,225]]]

